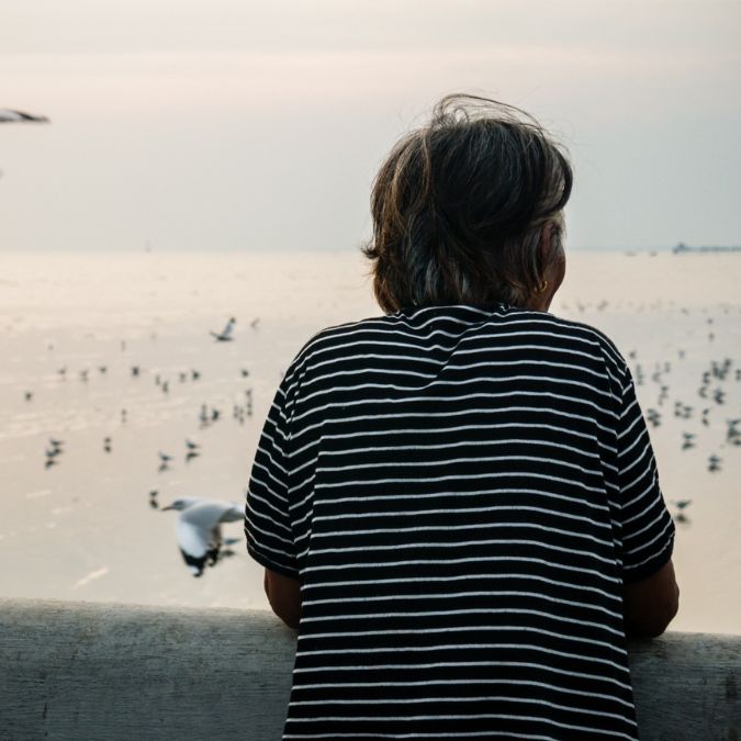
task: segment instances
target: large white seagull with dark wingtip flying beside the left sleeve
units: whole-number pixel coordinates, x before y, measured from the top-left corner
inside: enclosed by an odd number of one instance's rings
[[[179,512],[176,534],[182,558],[193,576],[201,576],[206,565],[213,566],[222,553],[222,523],[236,523],[245,517],[236,503],[207,502],[182,497],[162,512]]]

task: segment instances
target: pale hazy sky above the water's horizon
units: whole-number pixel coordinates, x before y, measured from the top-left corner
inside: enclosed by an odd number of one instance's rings
[[[741,0],[2,0],[0,249],[355,249],[442,94],[566,144],[573,248],[741,244]]]

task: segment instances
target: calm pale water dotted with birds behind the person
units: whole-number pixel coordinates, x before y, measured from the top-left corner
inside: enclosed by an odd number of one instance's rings
[[[378,314],[359,257],[4,254],[2,265],[0,596],[265,607],[242,542],[193,579],[177,515],[151,508],[149,493],[160,505],[243,502],[293,355],[323,326]],[[740,277],[737,255],[575,254],[552,306],[615,339],[644,413],[659,415],[665,497],[692,499],[677,523],[682,630],[741,632],[730,588],[741,582],[741,446],[728,437],[741,418]],[[214,343],[209,332],[231,316],[235,340]],[[204,405],[218,419],[202,424]],[[49,438],[64,453],[45,468]],[[201,450],[190,461],[187,438]],[[159,451],[172,457],[166,470]],[[240,538],[239,524],[225,535]]]

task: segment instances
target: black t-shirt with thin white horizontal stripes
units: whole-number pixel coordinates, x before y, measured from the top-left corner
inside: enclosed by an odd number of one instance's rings
[[[285,373],[247,546],[299,579],[285,739],[637,738],[624,582],[674,527],[627,364],[509,306],[330,327]]]

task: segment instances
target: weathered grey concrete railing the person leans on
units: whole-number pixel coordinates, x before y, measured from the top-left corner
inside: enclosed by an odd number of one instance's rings
[[[267,613],[0,600],[0,739],[274,741],[294,645]],[[630,659],[642,741],[738,741],[741,637]]]

